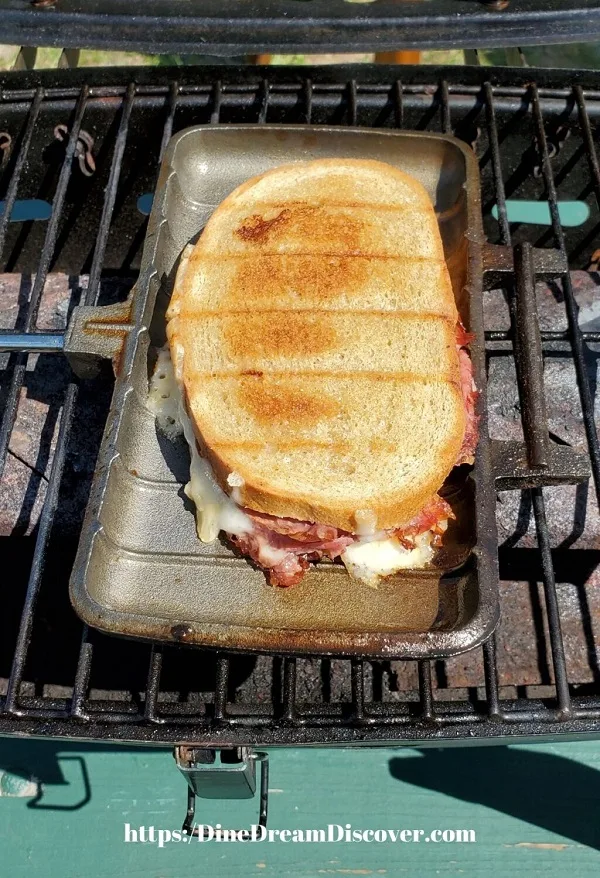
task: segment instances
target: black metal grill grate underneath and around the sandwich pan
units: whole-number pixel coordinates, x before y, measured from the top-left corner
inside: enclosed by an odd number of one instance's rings
[[[76,279],[71,304],[104,301],[115,289],[120,296],[127,293],[146,224],[147,209],[139,205],[153,189],[172,132],[200,122],[454,131],[474,145],[480,159],[489,239],[555,246],[572,269],[587,268],[600,226],[595,147],[600,77],[589,73],[585,82],[565,88],[548,71],[527,70],[526,82],[519,81],[522,71],[514,70],[403,68],[402,82],[397,74],[397,68],[384,67],[258,74],[180,68],[136,71],[135,83],[126,78],[130,71],[10,75],[0,102],[0,125],[11,138],[0,167],[0,260],[16,280],[2,277],[15,294],[18,275],[35,277],[7,329],[40,330],[55,272]],[[67,126],[66,142],[57,140],[59,125]],[[93,153],[91,176],[82,166],[86,149]],[[9,221],[31,199],[51,203],[45,232],[42,221]],[[547,203],[550,224],[511,221],[511,202],[523,199]],[[567,201],[587,204],[589,218],[579,226],[563,224]],[[35,339],[32,353],[5,358],[4,496],[15,495],[11,461],[28,463],[13,444],[15,431],[24,429],[22,406],[32,372],[51,374],[51,408],[54,417],[60,409],[60,418],[58,427],[50,423],[40,435],[33,430],[38,445],[35,465],[29,461],[29,496],[17,500],[29,503],[30,517],[45,486],[37,523],[31,532],[22,523],[12,534],[5,529],[0,540],[3,567],[15,571],[8,582],[4,577],[0,731],[222,745],[598,734],[600,665],[591,589],[600,548],[594,423],[600,324],[594,326],[589,284],[584,295],[579,280],[581,272],[552,282],[554,298],[542,297],[549,305],[541,309],[546,320],[541,335],[547,367],[556,360],[574,370],[580,409],[564,432],[569,440],[575,432],[576,443],[587,449],[595,496],[587,497],[585,486],[524,492],[514,533],[500,547],[500,632],[481,650],[446,662],[224,655],[82,630],[68,606],[67,579],[110,381],[74,380],[68,369],[57,367],[56,355],[33,353]],[[511,309],[496,319],[493,305],[505,299],[510,305],[510,281],[504,293],[505,298],[493,294],[486,310],[493,318],[486,332],[491,382],[495,363],[512,363]],[[592,315],[585,322],[584,299]],[[4,307],[2,302],[0,297]],[[504,384],[510,374],[501,372]],[[52,448],[49,465],[40,457],[44,443]],[[81,464],[82,455],[88,464]],[[81,485],[74,500],[69,495],[76,483]],[[574,521],[565,540],[556,538],[557,508]],[[534,530],[528,528],[531,513]],[[530,629],[519,629],[519,601]]]

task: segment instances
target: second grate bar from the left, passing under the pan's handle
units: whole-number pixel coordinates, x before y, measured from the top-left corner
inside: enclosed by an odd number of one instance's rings
[[[84,86],[81,89],[79,99],[77,101],[75,118],[73,120],[73,126],[69,134],[67,148],[65,151],[65,158],[61,167],[58,183],[56,186],[56,193],[52,202],[52,213],[48,222],[48,228],[46,230],[46,237],[40,256],[39,268],[35,276],[35,281],[27,305],[27,311],[25,313],[25,332],[31,332],[33,329],[35,329],[42,291],[46,283],[46,277],[48,275],[48,269],[50,267],[50,260],[52,259],[54,247],[56,245],[58,224],[60,222],[62,214],[62,207],[65,200],[67,186],[71,178],[73,157],[75,155],[75,147],[77,145],[79,129],[81,128],[81,121],[83,119],[83,114],[85,113],[87,98],[88,87]],[[13,373],[11,375],[4,414],[2,415],[2,424],[0,425],[0,476],[4,472],[4,466],[6,464],[8,445],[10,442],[10,436],[12,433],[15,418],[17,416],[19,396],[21,392],[21,387],[23,386],[23,379],[25,377],[26,368],[27,354],[17,354],[17,356],[15,357]]]

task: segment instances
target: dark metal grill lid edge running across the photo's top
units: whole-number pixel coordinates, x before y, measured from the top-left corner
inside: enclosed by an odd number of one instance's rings
[[[236,56],[244,52],[368,52],[416,47],[531,46],[600,35],[595,0],[0,0],[3,39],[73,46]],[[201,40],[199,39],[201,36]]]

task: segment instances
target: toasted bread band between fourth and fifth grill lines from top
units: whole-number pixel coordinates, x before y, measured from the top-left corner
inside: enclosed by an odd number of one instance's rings
[[[424,411],[452,418],[461,391],[441,378],[340,373],[286,373],[204,377],[205,393],[193,400],[212,446],[232,448],[295,444],[422,453]],[[367,404],[368,403],[368,404]],[[432,441],[436,441],[434,438]]]

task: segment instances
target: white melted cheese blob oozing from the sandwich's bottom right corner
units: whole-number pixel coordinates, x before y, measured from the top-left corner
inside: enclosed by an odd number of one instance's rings
[[[354,579],[377,588],[379,580],[399,570],[425,567],[433,558],[433,534],[426,531],[415,538],[415,548],[405,549],[395,537],[360,540],[342,553],[342,561]]]

